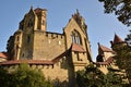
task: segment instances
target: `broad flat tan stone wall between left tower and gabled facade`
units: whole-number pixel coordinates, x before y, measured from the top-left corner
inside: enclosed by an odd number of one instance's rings
[[[33,59],[52,60],[66,51],[64,36],[47,32],[34,33]]]

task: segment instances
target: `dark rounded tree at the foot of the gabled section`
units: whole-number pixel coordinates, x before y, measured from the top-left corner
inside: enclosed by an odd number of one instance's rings
[[[85,71],[76,72],[79,87],[103,87],[104,74],[93,64],[85,67]]]

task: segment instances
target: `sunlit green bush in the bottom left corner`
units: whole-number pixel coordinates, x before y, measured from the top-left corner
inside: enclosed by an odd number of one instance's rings
[[[15,71],[8,72],[1,69],[0,87],[52,87],[50,82],[47,82],[43,73],[38,70],[33,70],[28,67],[27,64],[21,64]],[[3,75],[4,72],[4,76]],[[5,85],[2,85],[5,82]],[[7,84],[8,83],[8,84]]]

